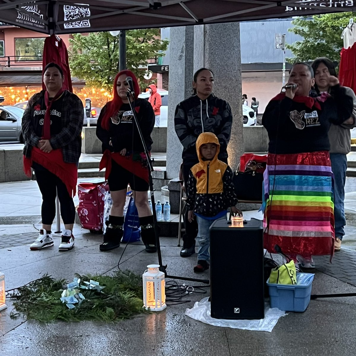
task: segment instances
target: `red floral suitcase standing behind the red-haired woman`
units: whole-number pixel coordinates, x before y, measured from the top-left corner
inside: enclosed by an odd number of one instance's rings
[[[106,182],[78,184],[78,216],[82,227],[90,232],[103,232],[106,190],[109,190]]]

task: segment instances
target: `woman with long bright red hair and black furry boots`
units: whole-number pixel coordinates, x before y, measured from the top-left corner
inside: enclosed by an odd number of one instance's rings
[[[110,251],[120,246],[124,232],[127,185],[130,184],[140,220],[142,242],[147,252],[156,252],[153,216],[147,197],[149,189],[147,158],[126,96],[129,91],[127,77],[132,78],[135,92],[130,95],[130,100],[148,151],[151,150],[153,143],[151,132],[155,124],[155,113],[147,100],[138,99],[140,87],[135,74],[130,70],[122,70],[117,73],[114,80],[114,99],[101,110],[96,126],[96,136],[102,142],[104,153],[99,169],[106,168],[105,179],[108,180],[112,198],[104,242],[99,248],[100,251]]]

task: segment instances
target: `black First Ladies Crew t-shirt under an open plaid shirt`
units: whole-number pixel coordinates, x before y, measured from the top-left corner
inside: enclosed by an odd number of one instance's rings
[[[62,130],[62,104],[63,95],[53,101],[51,106],[51,137]],[[32,125],[38,137],[42,137],[43,121],[45,120],[46,104],[44,96],[32,106]]]

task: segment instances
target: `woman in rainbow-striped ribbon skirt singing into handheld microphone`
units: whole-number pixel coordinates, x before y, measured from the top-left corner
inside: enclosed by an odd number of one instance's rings
[[[314,82],[309,64],[294,64],[287,84],[297,87],[274,97],[262,117],[269,137],[263,244],[271,253],[279,245],[303,268],[315,267],[312,255],[334,253],[328,131],[331,122],[349,119],[353,108],[337,78],[328,78],[331,95],[314,97]]]

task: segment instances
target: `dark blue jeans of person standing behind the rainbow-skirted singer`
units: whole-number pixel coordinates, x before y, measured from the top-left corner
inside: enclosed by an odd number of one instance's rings
[[[347,158],[342,153],[330,153],[331,170],[334,173],[334,218],[335,236],[342,240],[346,225],[344,199]]]

